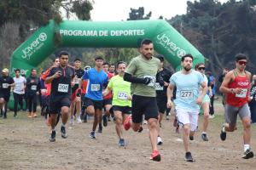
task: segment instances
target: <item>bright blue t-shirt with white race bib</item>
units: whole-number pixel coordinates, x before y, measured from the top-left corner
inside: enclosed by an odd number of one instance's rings
[[[88,79],[85,97],[102,100],[102,85],[108,82],[108,74],[103,70],[98,72],[92,68],[85,71],[83,78],[84,80]]]

